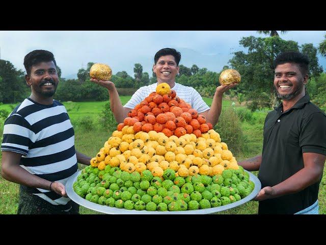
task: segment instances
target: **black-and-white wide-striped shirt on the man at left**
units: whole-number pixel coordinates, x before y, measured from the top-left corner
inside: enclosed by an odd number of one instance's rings
[[[63,185],[77,171],[74,130],[66,108],[58,101],[41,105],[27,98],[18,105],[5,121],[1,151],[22,154],[21,167]],[[69,198],[54,191],[22,187],[62,210],[72,205]]]

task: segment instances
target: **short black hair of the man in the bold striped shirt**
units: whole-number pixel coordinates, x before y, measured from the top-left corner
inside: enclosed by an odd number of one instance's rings
[[[57,67],[57,63],[53,54],[46,50],[34,50],[24,57],[24,66],[27,75],[31,74],[32,66],[41,62],[53,61]]]

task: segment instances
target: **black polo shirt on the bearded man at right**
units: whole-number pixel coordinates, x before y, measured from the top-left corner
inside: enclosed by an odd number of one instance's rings
[[[303,153],[326,155],[326,115],[305,95],[292,108],[283,105],[267,114],[264,124],[261,188],[274,186],[304,167]],[[302,191],[259,202],[259,214],[293,214],[318,199],[320,180]]]

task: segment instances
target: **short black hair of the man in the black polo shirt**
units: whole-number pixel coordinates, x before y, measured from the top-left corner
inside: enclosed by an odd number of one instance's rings
[[[276,66],[284,63],[295,63],[300,67],[303,76],[308,75],[309,58],[300,52],[284,52],[276,57],[274,60],[274,69]]]

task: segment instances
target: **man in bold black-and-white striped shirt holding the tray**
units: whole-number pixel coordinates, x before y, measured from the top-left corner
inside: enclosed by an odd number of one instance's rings
[[[91,158],[76,152],[66,108],[53,100],[59,84],[55,58],[35,50],[24,66],[32,93],[5,121],[1,175],[20,184],[18,214],[78,213],[65,183],[77,162],[89,165]]]

